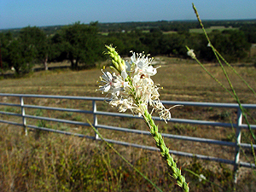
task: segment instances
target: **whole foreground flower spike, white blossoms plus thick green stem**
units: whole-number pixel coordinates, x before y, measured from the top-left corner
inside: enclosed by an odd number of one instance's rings
[[[149,131],[154,138],[155,145],[160,149],[163,160],[172,177],[176,179],[177,185],[183,191],[189,191],[189,185],[185,181],[181,170],[177,168],[169,148],[166,147],[163,137],[158,132],[158,126],[154,124],[151,114],[154,112],[160,115],[160,119],[165,121],[171,119],[171,108],[165,108],[159,99],[158,84],[154,84],[151,76],[157,73],[157,68],[152,67],[153,59],[141,54],[132,52],[131,62],[124,61],[112,45],[107,45],[107,52],[112,60],[113,71],[104,72],[102,70],[101,85],[99,90],[102,93],[110,94],[110,106],[119,108],[119,112],[131,110],[133,114],[143,116]],[[148,105],[153,109],[148,113]],[[173,108],[173,107],[172,107]],[[167,121],[166,121],[167,123]]]

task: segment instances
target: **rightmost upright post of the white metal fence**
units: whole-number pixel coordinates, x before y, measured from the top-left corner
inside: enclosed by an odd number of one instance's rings
[[[237,182],[239,157],[240,157],[240,143],[241,143],[241,122],[242,113],[241,108],[237,109],[237,122],[236,122],[236,151],[235,151],[235,164],[234,164],[234,183]]]

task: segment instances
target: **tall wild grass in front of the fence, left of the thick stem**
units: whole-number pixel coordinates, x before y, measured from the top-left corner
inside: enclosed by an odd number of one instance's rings
[[[159,187],[102,143],[50,132],[24,136],[16,127],[2,128],[0,191],[180,191],[169,182],[167,169],[154,152],[118,148]]]

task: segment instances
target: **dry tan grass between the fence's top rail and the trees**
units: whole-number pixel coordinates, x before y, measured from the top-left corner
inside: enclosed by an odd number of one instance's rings
[[[203,69],[193,62],[183,64],[183,60],[162,57],[156,58],[161,67],[153,77],[154,82],[164,89],[160,90],[162,100],[198,102],[235,102]],[[187,61],[188,62],[188,61]],[[227,87],[221,68],[216,64],[205,64],[207,69]],[[255,89],[256,70],[252,66],[235,65],[235,69]],[[228,72],[230,70],[228,69]],[[68,96],[102,96],[96,92],[96,81],[102,74],[100,69],[86,71],[54,70],[33,73],[23,79],[1,80],[1,92],[30,93]],[[164,74],[164,75],[163,75]],[[236,75],[230,79],[242,101],[254,103],[255,97]]]

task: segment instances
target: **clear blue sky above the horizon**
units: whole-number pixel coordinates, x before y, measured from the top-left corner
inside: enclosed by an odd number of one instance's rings
[[[256,19],[255,0],[0,0],[0,29],[90,23]]]

